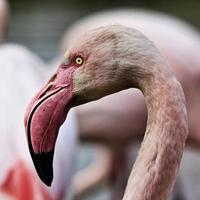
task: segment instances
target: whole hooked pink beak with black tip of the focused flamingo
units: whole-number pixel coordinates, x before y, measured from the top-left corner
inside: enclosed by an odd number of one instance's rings
[[[74,69],[59,68],[47,85],[33,98],[25,114],[30,154],[41,180],[53,180],[53,155],[58,131],[72,102]]]

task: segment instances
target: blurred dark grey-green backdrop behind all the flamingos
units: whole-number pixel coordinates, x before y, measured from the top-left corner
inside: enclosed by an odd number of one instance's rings
[[[58,55],[59,42],[64,31],[76,20],[93,12],[110,8],[142,8],[162,11],[185,20],[197,30],[200,28],[200,1],[198,0],[10,0],[8,3],[10,18],[6,42],[25,45],[45,61],[50,61]],[[200,166],[200,156],[197,152],[191,153],[190,150],[187,150],[185,155],[183,163],[186,167],[182,169],[182,172],[186,175],[183,180],[186,181],[190,177],[193,180],[192,188],[197,192],[200,188],[200,180],[196,176],[198,169],[194,166]],[[77,170],[88,165],[93,156],[90,147],[82,146],[77,158]],[[194,165],[187,165],[188,162],[194,162]],[[194,175],[189,173],[195,170]],[[191,190],[187,191],[187,187],[184,190],[189,194],[188,196],[193,193]],[[107,187],[101,186],[98,191],[86,197],[85,200],[108,199]]]

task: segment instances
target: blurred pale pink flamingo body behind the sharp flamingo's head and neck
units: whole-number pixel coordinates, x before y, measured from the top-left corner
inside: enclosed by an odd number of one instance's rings
[[[85,30],[112,23],[137,27],[144,32],[173,67],[187,99],[190,127],[188,143],[199,148],[200,62],[197,52],[200,50],[200,37],[197,31],[185,22],[161,13],[134,9],[110,10],[90,15],[67,29],[61,41],[63,51]],[[134,103],[130,101],[133,97]],[[113,145],[132,143],[143,137],[145,113],[141,93],[136,90],[133,93],[132,89],[80,106],[77,115],[81,138],[83,141],[101,141]],[[119,189],[115,193],[117,191]]]

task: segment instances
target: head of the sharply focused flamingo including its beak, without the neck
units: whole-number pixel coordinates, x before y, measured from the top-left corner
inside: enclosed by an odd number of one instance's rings
[[[149,42],[138,31],[120,25],[86,33],[67,51],[57,72],[29,104],[25,114],[29,149],[38,175],[47,185],[53,179],[58,131],[69,109],[131,87],[129,66],[133,63],[129,57],[139,40]]]

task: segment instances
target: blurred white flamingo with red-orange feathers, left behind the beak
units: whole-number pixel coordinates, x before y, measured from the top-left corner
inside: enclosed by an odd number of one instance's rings
[[[3,74],[0,80],[0,199],[58,200],[64,196],[70,199],[77,146],[74,114],[69,115],[71,122],[63,124],[59,134],[55,152],[55,179],[52,187],[47,188],[34,170],[26,139],[21,137],[24,132],[23,111],[32,93],[46,77],[45,63],[23,46],[3,44],[0,47],[0,65]],[[71,149],[69,154],[65,152],[66,146]],[[63,152],[65,156],[62,156]],[[63,168],[68,173],[63,174]]]

